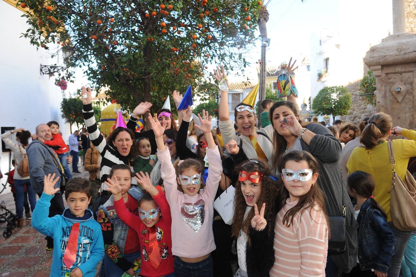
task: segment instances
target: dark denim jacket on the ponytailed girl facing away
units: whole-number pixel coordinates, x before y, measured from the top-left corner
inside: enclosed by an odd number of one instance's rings
[[[370,198],[361,206],[357,222],[358,260],[361,270],[374,269],[387,273],[394,255],[396,239],[386,218],[371,205]]]

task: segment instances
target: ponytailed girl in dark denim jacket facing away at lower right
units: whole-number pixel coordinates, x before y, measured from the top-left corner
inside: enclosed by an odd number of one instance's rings
[[[387,277],[396,240],[387,223],[387,215],[374,199],[376,182],[371,174],[354,171],[347,179],[348,188],[357,199],[354,208],[358,228],[357,266],[342,276]]]

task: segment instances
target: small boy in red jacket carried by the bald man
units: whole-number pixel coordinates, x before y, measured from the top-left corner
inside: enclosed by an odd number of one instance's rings
[[[55,150],[58,155],[59,161],[64,168],[65,177],[72,178],[72,173],[69,170],[67,157],[69,157],[69,146],[62,139],[62,135],[59,134],[59,123],[56,121],[49,121],[47,124],[52,132],[52,138],[50,141],[42,140],[45,145]]]

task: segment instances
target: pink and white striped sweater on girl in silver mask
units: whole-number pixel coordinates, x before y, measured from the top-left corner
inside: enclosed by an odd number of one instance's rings
[[[317,206],[295,214],[292,225],[282,220],[297,201],[289,202],[277,213],[275,225],[275,264],[270,276],[325,276],[328,252],[328,227],[324,211]]]

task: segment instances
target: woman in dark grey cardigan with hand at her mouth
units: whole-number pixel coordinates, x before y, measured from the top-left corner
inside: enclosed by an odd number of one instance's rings
[[[291,101],[276,102],[270,108],[269,116],[271,126],[275,129],[273,167],[277,168],[281,159],[290,151],[303,150],[311,153],[319,164],[317,184],[324,191],[327,214],[343,215],[344,203],[346,250],[342,254],[328,257],[325,272],[327,276],[336,276],[338,270],[349,272],[357,263],[358,224],[342,181],[339,166],[341,143],[321,124],[311,123],[302,126],[299,108]]]

